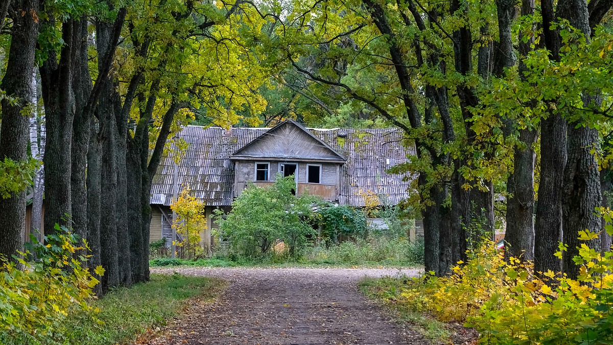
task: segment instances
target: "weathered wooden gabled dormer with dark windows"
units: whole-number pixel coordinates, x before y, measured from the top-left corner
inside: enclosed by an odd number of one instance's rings
[[[294,176],[298,195],[310,193],[338,200],[340,166],[346,158],[307,128],[286,120],[230,156],[234,161],[234,196],[248,182],[272,184],[276,174]]]

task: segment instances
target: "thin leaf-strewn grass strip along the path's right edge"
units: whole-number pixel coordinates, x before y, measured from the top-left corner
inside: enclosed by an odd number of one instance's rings
[[[416,326],[417,330],[428,339],[432,339],[435,342],[449,343],[451,333],[443,322],[422,312],[413,311],[402,303],[397,302],[405,281],[406,278],[403,277],[365,278],[359,282],[359,287],[368,298],[383,304],[390,311],[394,312],[400,322]]]

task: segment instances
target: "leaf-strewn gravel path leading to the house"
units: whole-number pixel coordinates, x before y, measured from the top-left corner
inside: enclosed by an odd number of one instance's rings
[[[430,344],[367,301],[365,276],[416,269],[156,268],[153,273],[221,277],[223,297],[199,305],[148,344]]]

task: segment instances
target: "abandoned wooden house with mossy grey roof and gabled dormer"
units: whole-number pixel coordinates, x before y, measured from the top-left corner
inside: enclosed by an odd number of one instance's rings
[[[229,211],[248,182],[269,185],[277,173],[295,176],[298,195],[315,194],[339,204],[364,206],[360,191],[367,190],[384,195],[387,204],[408,197],[411,178],[387,173],[414,154],[402,144],[397,128],[324,130],[286,120],[273,128],[186,126],[178,137],[188,144],[185,155],[176,167],[172,158],[165,157],[151,188],[152,242],[172,238],[175,169],[178,189],[189,185],[205,204],[207,230],[201,234],[205,249],[210,248],[211,229],[217,226],[211,219],[213,210]]]

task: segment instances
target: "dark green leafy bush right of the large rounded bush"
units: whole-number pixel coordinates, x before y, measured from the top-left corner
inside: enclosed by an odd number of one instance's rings
[[[366,214],[349,205],[322,203],[318,217],[323,225],[322,239],[337,241],[338,236],[364,236],[367,230]]]

